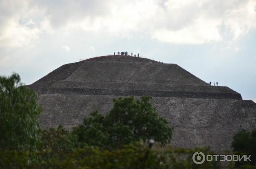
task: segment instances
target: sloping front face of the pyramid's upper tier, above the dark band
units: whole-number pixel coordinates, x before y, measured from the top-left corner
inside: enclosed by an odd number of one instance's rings
[[[82,65],[66,80],[98,83],[136,82],[167,85],[207,85],[203,80],[176,64],[149,63],[136,60],[122,62],[116,60],[83,61]]]

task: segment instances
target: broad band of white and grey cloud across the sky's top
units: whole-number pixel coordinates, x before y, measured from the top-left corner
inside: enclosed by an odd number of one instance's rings
[[[4,2],[0,6],[4,13],[0,17],[0,46],[6,47],[32,46],[32,40],[41,33],[67,34],[79,29],[121,37],[141,34],[168,43],[203,44],[237,40],[256,28],[256,0]]]

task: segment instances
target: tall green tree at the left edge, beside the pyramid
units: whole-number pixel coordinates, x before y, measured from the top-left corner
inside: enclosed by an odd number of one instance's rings
[[[20,76],[0,77],[0,149],[34,149],[40,141],[37,95]]]

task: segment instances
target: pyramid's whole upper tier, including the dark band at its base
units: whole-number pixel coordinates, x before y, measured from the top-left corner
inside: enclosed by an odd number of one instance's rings
[[[209,86],[176,64],[130,56],[95,57],[66,64],[30,87],[38,94],[241,99],[228,87]]]

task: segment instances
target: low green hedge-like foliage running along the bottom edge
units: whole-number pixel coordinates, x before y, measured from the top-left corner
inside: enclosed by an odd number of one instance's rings
[[[49,151],[0,152],[0,168],[26,169],[218,169],[220,166],[205,161],[203,165],[195,165],[186,157],[198,149],[161,148],[137,142],[105,150],[85,146],[67,153],[64,159],[49,157]],[[202,149],[200,149],[202,150]],[[38,160],[33,158],[39,157]]]

